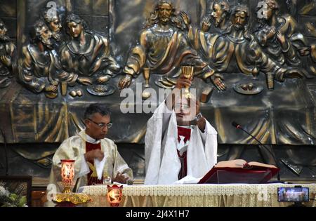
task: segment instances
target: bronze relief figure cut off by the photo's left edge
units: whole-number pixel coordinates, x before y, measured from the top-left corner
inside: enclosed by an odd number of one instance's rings
[[[16,47],[7,32],[4,21],[0,19],[0,88],[11,84],[16,70]]]

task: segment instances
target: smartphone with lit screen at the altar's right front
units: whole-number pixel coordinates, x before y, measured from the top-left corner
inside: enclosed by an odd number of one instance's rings
[[[277,201],[279,202],[308,202],[308,187],[279,187],[277,188]]]

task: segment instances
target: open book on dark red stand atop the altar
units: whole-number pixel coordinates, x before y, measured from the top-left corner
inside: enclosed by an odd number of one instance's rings
[[[220,161],[198,183],[267,183],[279,172],[274,165],[243,159]]]

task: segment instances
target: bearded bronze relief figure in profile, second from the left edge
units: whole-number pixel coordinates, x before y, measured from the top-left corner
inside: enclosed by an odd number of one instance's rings
[[[52,33],[42,20],[35,22],[30,42],[22,48],[19,79],[33,93],[44,92],[47,98],[58,96],[58,84],[65,81],[74,86],[77,74],[61,69],[58,54],[53,49]]]

